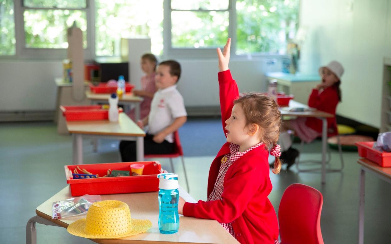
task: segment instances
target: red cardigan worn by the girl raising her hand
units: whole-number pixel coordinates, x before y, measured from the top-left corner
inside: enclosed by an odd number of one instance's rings
[[[229,70],[219,72],[219,85],[224,129],[239,91]],[[219,174],[221,158],[230,153],[229,145],[226,142],[222,146],[210,166],[208,196]],[[272,189],[268,156],[269,152],[261,145],[240,157],[225,175],[222,200],[185,203],[183,215],[232,223],[240,243],[274,243],[278,240],[278,222],[273,205],[267,198]]]

